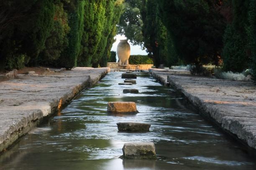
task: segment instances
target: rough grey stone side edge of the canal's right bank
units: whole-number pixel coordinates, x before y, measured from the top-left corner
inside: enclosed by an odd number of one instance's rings
[[[171,72],[170,70],[163,69],[149,69],[149,73],[162,85],[174,87],[181,92],[187,100],[199,110],[200,115],[213,122],[221,128],[224,133],[227,133],[232,138],[248,147],[248,149],[252,149],[253,152],[256,151],[256,131],[250,129],[251,125],[247,126],[244,122],[236,120],[236,117],[233,118],[225,115],[225,112],[218,108],[218,104],[211,105],[212,103],[209,104],[199,96],[190,93],[178,80],[178,77],[185,78],[186,74],[182,75],[183,73],[180,74],[177,71]],[[177,76],[177,78],[174,80],[175,76]],[[256,120],[256,117],[253,117],[253,119]]]

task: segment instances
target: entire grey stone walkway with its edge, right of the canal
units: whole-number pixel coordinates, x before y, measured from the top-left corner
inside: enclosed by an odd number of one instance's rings
[[[161,83],[180,90],[223,130],[256,149],[256,84],[151,70]]]

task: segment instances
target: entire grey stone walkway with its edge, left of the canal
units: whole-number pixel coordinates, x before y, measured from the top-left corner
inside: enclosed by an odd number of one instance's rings
[[[76,67],[54,75],[18,75],[0,82],[0,152],[109,71],[108,67]]]

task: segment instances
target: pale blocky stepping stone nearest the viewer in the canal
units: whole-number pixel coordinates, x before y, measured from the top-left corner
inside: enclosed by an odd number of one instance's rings
[[[123,145],[123,158],[156,159],[156,149],[152,142],[134,142]]]

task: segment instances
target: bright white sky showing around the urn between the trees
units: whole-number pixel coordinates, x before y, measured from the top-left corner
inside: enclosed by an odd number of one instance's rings
[[[115,36],[116,41],[113,44],[111,51],[116,51],[117,45],[120,42],[120,40],[124,40],[126,39],[126,37],[124,35],[116,35]],[[130,46],[131,46],[131,55],[147,55],[148,53],[146,52],[146,50],[141,50],[141,46],[139,45],[132,45],[131,42],[128,40]]]

